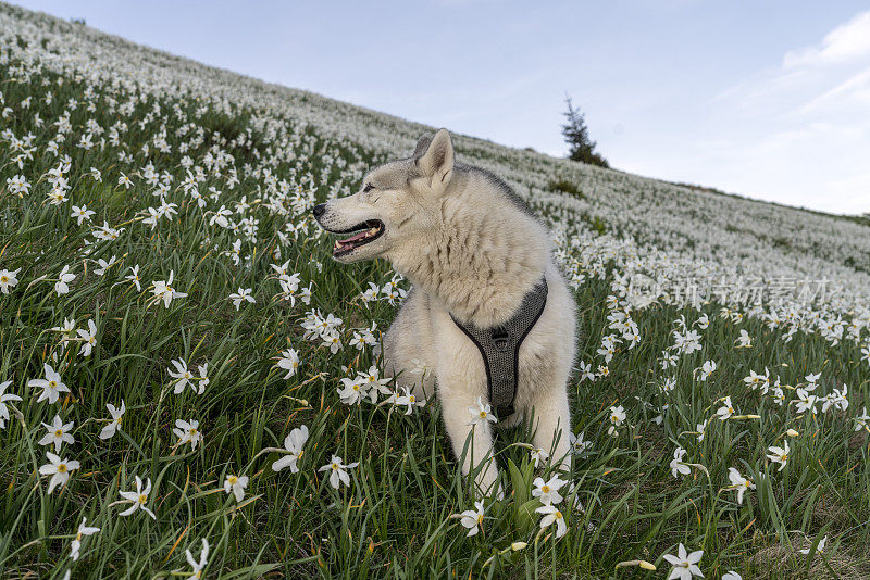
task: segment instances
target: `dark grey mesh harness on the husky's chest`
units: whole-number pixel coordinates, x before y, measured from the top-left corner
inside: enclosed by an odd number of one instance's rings
[[[471,339],[481,351],[486,367],[486,383],[489,403],[499,420],[513,414],[513,400],[517,396],[517,382],[520,377],[520,345],[532,330],[547,304],[547,280],[542,277],[535,287],[526,292],[520,307],[511,318],[494,328],[477,328],[463,325],[453,315],[456,326]]]

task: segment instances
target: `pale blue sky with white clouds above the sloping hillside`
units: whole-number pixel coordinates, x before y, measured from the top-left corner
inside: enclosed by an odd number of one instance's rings
[[[870,7],[754,0],[13,3],[419,123],[567,154],[570,94],[611,166],[870,212]]]

